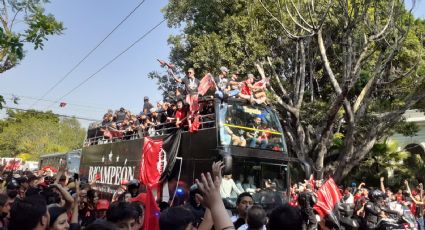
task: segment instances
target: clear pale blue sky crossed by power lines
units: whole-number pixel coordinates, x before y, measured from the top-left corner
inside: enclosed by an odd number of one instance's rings
[[[148,79],[151,71],[164,71],[157,58],[167,59],[170,47],[167,38],[179,32],[166,22],[108,65],[80,88],[52,105],[103,65],[130,46],[139,37],[164,19],[161,9],[166,0],[146,0],[90,57],[44,100],[31,107],[59,79],[65,76],[93,49],[141,0],[55,0],[45,6],[46,12],[62,21],[66,30],[49,37],[43,50],[26,47],[26,56],[15,68],[0,75],[0,95],[6,106],[21,109],[52,110],[54,113],[101,120],[108,109],[124,107],[138,113],[143,97],[152,102],[161,99],[156,82]],[[410,6],[411,4],[408,5]],[[425,18],[425,0],[417,0],[417,17]],[[20,98],[11,101],[12,94]],[[5,110],[0,117],[5,116]],[[90,121],[80,120],[83,127]]]

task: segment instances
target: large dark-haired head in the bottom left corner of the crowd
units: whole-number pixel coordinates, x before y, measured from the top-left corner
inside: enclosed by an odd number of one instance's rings
[[[34,195],[16,202],[10,211],[9,230],[47,229],[50,215],[42,196]]]

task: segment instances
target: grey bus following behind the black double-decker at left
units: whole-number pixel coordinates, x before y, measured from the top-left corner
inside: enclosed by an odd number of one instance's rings
[[[66,153],[51,153],[40,156],[40,169],[50,169],[57,171],[61,166],[68,169],[70,173],[79,173],[81,149],[72,150]]]

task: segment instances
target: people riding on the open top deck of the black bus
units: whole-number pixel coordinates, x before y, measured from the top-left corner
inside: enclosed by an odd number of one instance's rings
[[[255,82],[253,74],[247,74],[245,80],[239,79],[239,73],[229,76],[229,70],[221,67],[219,75],[213,77],[210,73],[202,80],[195,77],[195,70],[189,68],[187,76],[177,77],[169,71],[176,83],[179,84],[175,97],[166,102],[158,101],[152,105],[147,96],[144,97],[143,109],[139,114],[134,114],[124,108],[117,111],[109,110],[102,119],[101,130],[103,136],[109,139],[123,138],[137,134],[141,136],[154,136],[166,134],[167,130],[175,127],[188,127],[192,130],[198,128],[200,122],[212,121],[210,115],[214,113],[211,103],[199,103],[199,95],[204,96],[207,91],[215,91],[214,96],[221,100],[226,98],[241,98],[254,104],[266,102],[267,79]],[[208,98],[213,98],[213,95]],[[199,116],[200,115],[200,116]],[[208,124],[206,125],[208,126]],[[160,130],[160,131],[158,131]]]

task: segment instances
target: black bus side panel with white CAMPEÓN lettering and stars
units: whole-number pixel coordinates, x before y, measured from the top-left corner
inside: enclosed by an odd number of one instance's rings
[[[142,152],[143,139],[84,147],[80,175],[95,180],[96,190],[114,193],[121,182],[139,178]]]

